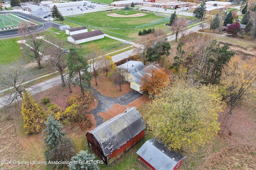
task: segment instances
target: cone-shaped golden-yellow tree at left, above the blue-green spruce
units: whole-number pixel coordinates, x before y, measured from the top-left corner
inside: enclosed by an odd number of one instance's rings
[[[21,113],[23,115],[25,133],[38,133],[44,122],[44,111],[26,90],[22,94]]]

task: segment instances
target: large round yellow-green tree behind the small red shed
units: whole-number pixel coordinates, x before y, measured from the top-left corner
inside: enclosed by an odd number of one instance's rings
[[[176,82],[148,105],[148,125],[169,150],[196,151],[220,129],[217,119],[223,105],[217,88],[188,84]]]

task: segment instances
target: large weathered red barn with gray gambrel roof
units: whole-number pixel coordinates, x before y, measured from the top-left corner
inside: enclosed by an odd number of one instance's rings
[[[88,146],[110,165],[144,137],[145,128],[142,116],[132,107],[86,133]]]

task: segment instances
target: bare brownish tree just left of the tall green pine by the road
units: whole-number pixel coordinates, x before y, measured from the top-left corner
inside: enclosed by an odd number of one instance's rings
[[[46,62],[60,73],[62,86],[65,86],[64,70],[68,66],[67,54],[64,51],[66,41],[55,37],[51,38],[50,41],[52,45],[48,48]]]

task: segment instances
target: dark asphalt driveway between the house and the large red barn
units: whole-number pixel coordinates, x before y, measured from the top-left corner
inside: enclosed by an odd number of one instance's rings
[[[120,104],[121,106],[125,106],[142,96],[142,94],[134,90],[131,90],[130,92],[118,98],[110,98],[104,96],[94,88],[92,88],[92,91],[94,92],[94,97],[98,100],[98,106],[95,109],[92,109],[89,113],[94,115],[96,127],[104,123],[103,118],[98,115],[98,113],[104,113],[108,111],[108,109],[111,109],[114,104]]]

